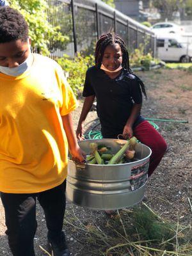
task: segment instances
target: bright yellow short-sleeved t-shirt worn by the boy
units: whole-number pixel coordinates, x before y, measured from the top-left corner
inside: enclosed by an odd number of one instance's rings
[[[29,71],[0,73],[0,191],[37,193],[67,176],[68,143],[61,116],[76,98],[60,65],[34,54]]]

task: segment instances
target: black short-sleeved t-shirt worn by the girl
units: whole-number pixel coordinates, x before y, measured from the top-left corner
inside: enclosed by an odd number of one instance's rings
[[[104,138],[116,138],[122,134],[133,103],[142,103],[140,79],[125,69],[115,79],[111,79],[99,67],[88,68],[83,97],[91,95],[97,98],[97,115]],[[134,125],[143,120],[139,115]]]

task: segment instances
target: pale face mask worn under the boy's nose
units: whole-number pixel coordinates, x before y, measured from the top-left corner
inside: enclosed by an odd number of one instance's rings
[[[15,77],[20,76],[21,74],[29,70],[29,68],[31,68],[32,63],[33,63],[33,54],[31,54],[30,52],[28,58],[19,66],[15,68],[0,66],[0,72],[8,76],[15,76]]]

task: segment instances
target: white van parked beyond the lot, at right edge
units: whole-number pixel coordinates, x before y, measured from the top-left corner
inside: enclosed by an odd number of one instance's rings
[[[192,44],[183,36],[157,36],[157,58],[163,61],[190,62]]]

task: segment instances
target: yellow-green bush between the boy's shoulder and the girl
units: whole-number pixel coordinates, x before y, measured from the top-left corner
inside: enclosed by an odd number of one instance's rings
[[[65,72],[68,72],[68,83],[76,95],[81,95],[83,91],[84,78],[88,67],[93,66],[93,56],[83,58],[80,54],[74,60],[65,55],[63,58],[58,58],[56,61],[61,65]]]

